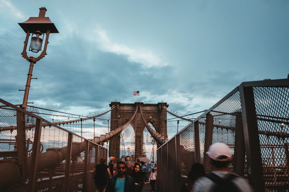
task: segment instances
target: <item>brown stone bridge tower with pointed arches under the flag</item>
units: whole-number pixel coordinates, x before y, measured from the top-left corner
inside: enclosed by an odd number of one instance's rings
[[[168,138],[167,126],[166,126],[166,110],[163,107],[168,107],[165,102],[159,102],[158,104],[144,104],[143,102],[135,103],[121,103],[111,102],[110,107],[116,106],[111,111],[111,123],[110,130],[115,130],[120,126],[123,126],[127,121],[130,120],[131,115],[134,114],[137,106],[139,106],[136,116],[131,121],[131,126],[134,128],[135,133],[135,157],[132,159],[139,159],[142,157],[142,133],[145,128],[145,124],[142,120],[140,107],[144,115],[145,121],[151,123],[155,128],[156,132]],[[115,136],[114,139],[110,140],[109,156],[115,157],[115,161],[119,161],[120,156],[120,136]],[[112,149],[111,149],[112,148]]]

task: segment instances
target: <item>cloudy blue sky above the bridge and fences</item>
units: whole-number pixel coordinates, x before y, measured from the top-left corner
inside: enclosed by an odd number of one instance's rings
[[[0,98],[12,104],[29,70],[18,23],[40,7],[59,33],[34,64],[36,107],[86,114],[140,100],[191,114],[242,82],[289,73],[288,0],[0,0]]]

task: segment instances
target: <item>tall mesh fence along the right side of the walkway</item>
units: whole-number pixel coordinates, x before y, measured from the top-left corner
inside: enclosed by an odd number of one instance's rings
[[[289,79],[240,84],[158,148],[158,191],[179,191],[193,163],[210,173],[206,152],[216,142],[230,147],[229,171],[255,191],[288,190],[288,98]]]

